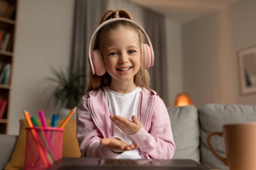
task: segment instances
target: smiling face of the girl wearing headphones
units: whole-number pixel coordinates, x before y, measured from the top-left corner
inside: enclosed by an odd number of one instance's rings
[[[133,82],[141,57],[138,35],[134,31],[118,29],[106,34],[101,52],[111,83]]]

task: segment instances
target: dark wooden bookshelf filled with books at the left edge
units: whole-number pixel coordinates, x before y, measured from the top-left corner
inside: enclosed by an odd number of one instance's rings
[[[11,74],[14,60],[13,47],[16,33],[16,13],[18,8],[18,0],[0,0],[0,7],[0,34],[2,34],[2,38],[0,35],[0,99],[7,101],[7,105],[3,111],[2,117],[0,117],[0,134],[6,134],[9,123]],[[7,36],[7,34],[9,35]],[[4,69],[6,65],[11,66],[9,67],[9,74],[6,74],[7,69]],[[8,79],[7,82],[4,82],[4,78],[1,80],[2,72],[4,77]]]

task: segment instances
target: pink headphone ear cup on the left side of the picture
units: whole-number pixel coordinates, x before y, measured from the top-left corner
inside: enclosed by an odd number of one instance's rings
[[[105,63],[99,49],[92,51],[92,62],[97,75],[101,76],[106,73]]]

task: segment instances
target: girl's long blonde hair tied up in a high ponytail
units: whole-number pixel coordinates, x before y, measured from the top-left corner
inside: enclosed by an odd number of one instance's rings
[[[128,11],[126,10],[123,10],[123,9],[116,10],[116,11],[108,10],[105,13],[103,13],[99,24],[111,18],[128,18],[130,20],[133,20],[130,13],[128,13]],[[131,22],[128,22],[125,20],[117,20],[115,22],[110,22],[109,24],[103,26],[103,28],[101,28],[101,30],[98,31],[94,41],[93,50],[95,49],[101,50],[103,46],[103,38],[105,37],[104,35],[106,33],[109,33],[110,31],[116,31],[120,28],[126,28],[126,29],[131,29],[132,31],[135,31],[135,33],[137,33],[138,35],[137,37],[139,40],[139,44],[141,44],[140,31],[138,27]],[[88,91],[97,90],[104,86],[108,86],[110,82],[111,82],[111,76],[108,74],[108,72],[106,72],[102,76],[98,76],[96,74],[93,75],[92,72],[89,71],[89,84],[85,90],[85,93]],[[147,89],[150,88],[150,76],[148,74],[148,71],[143,68],[142,58],[141,58],[140,69],[138,73],[134,76],[134,83],[140,87],[145,87]]]

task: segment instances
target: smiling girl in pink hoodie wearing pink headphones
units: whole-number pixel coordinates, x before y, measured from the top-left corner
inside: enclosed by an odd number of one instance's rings
[[[89,43],[90,82],[77,108],[81,157],[171,159],[168,112],[145,69],[154,60],[151,42],[141,45],[143,29],[125,10],[106,11],[101,23],[92,53]]]

